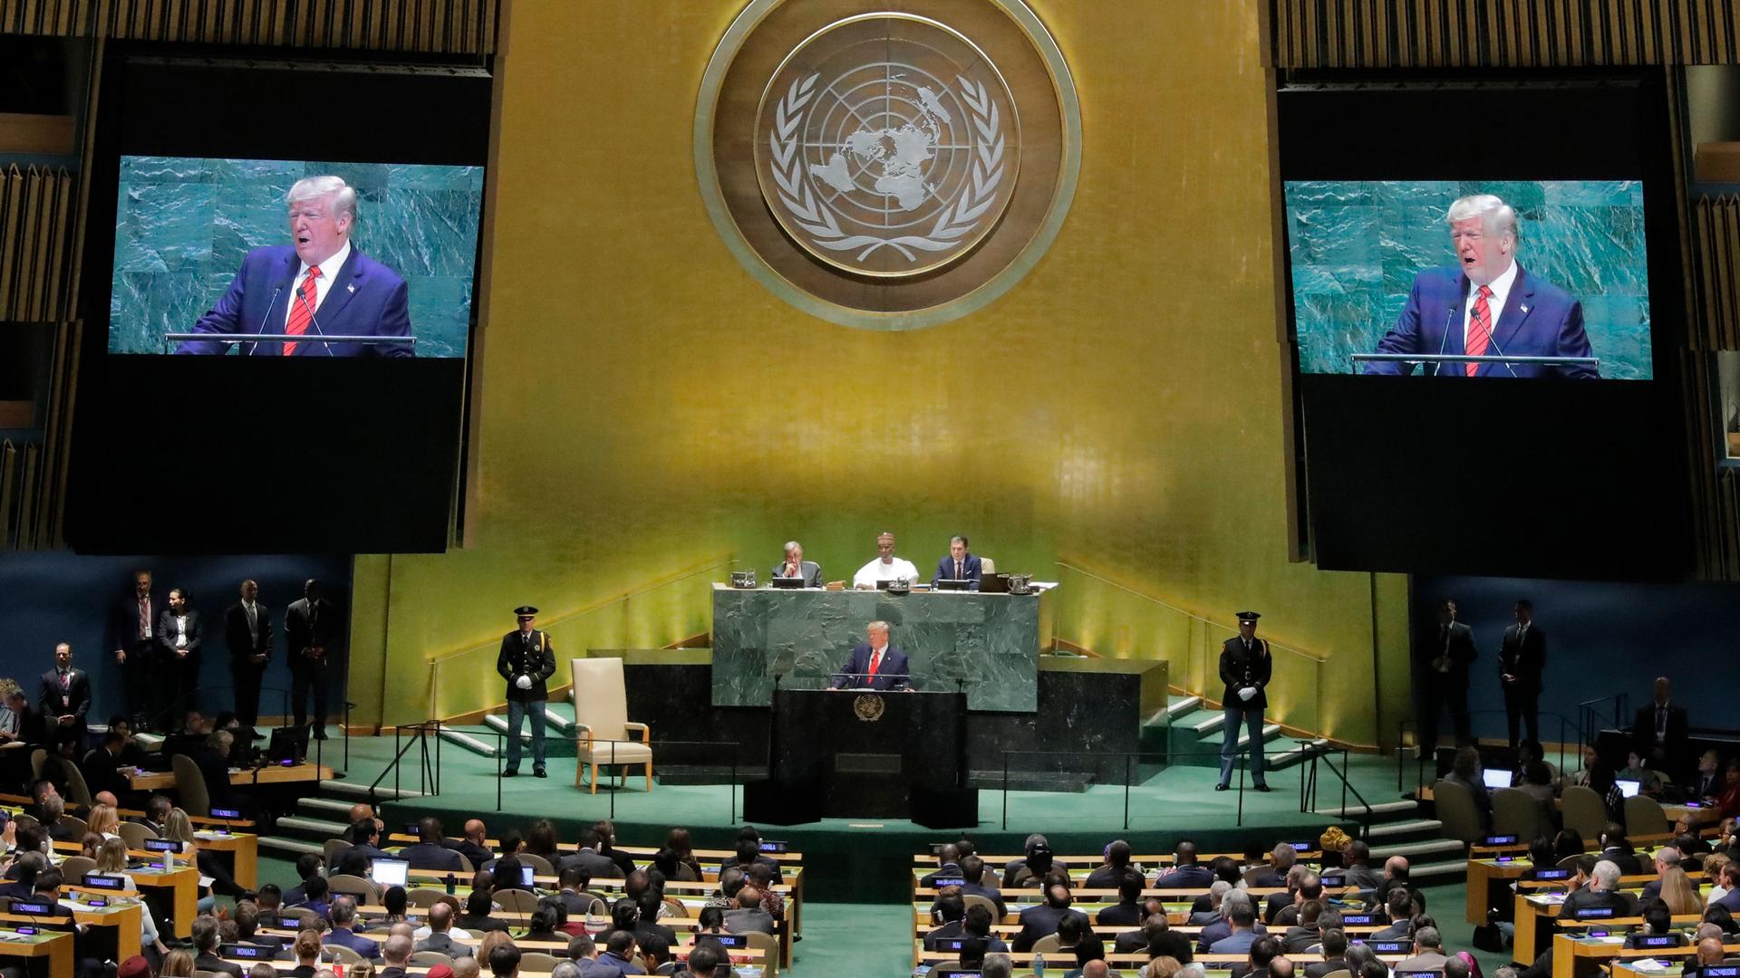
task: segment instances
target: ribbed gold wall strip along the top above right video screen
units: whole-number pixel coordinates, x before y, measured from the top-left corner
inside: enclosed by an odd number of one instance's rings
[[[1730,0],[1270,0],[1279,68],[1735,64]],[[1366,44],[1342,26],[1390,14]]]

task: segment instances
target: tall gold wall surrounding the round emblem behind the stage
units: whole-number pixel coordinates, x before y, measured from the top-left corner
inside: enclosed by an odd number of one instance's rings
[[[609,599],[720,555],[766,574],[793,536],[842,578],[893,529],[920,567],[962,531],[1002,571],[1068,559],[1220,621],[1262,609],[1328,658],[1324,726],[1373,740],[1404,586],[1288,562],[1258,2],[1032,5],[1081,92],[1074,209],[1009,294],[915,332],[799,313],[708,223],[694,99],[740,0],[510,5],[470,533],[358,560],[360,719],[423,719],[426,661],[517,604],[602,607],[559,647],[663,644],[706,630],[706,574]],[[1103,613],[1061,637],[1168,654],[1117,639],[1140,607],[1079,607]],[[492,654],[463,661],[442,713],[499,698]]]

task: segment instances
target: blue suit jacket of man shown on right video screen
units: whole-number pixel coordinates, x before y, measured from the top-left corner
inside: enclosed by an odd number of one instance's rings
[[[1413,291],[1402,315],[1395,318],[1376,353],[1465,353],[1462,320],[1470,296],[1469,277],[1460,268],[1427,268],[1415,275]],[[1505,308],[1493,324],[1493,343],[1486,355],[1507,357],[1589,357],[1589,334],[1583,332],[1583,305],[1564,289],[1529,275],[1517,265],[1516,282],[1505,298]],[[1437,371],[1427,364],[1425,372],[1442,378],[1467,376],[1465,364],[1444,364]],[[1366,364],[1368,374],[1411,374],[1413,364]],[[1594,379],[1596,367],[1549,367],[1540,364],[1481,364],[1477,378],[1576,378]]]

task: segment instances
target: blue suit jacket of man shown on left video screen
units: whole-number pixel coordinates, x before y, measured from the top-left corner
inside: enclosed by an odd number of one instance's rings
[[[242,259],[242,270],[230,280],[218,305],[193,324],[191,332],[263,332],[284,336],[291,285],[301,271],[301,259],[291,245],[256,247]],[[322,268],[322,271],[325,271]],[[308,327],[311,341],[296,345],[296,357],[411,357],[411,346],[390,343],[322,343],[331,336],[411,336],[411,310],[405,280],[379,261],[351,245],[350,258],[332,277],[325,299]],[[176,353],[224,353],[230,345],[200,339],[183,341]],[[280,343],[238,343],[240,355],[275,357]]]

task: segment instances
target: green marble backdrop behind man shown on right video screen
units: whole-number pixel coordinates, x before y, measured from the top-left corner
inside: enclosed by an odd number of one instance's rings
[[[1496,193],[1517,211],[1517,263],[1583,305],[1601,376],[1650,379],[1650,271],[1637,181],[1288,181],[1300,371],[1348,374],[1408,305],[1416,271],[1456,265],[1444,212]],[[1672,242],[1662,242],[1672,245]]]

